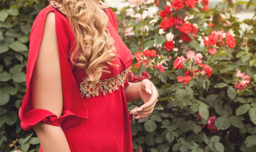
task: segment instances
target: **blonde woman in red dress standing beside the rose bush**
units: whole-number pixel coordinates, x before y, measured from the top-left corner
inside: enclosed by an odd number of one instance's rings
[[[148,117],[158,93],[151,81],[128,83],[132,54],[113,11],[99,0],[50,0],[30,34],[21,127],[40,152],[132,152],[127,102],[142,99]]]

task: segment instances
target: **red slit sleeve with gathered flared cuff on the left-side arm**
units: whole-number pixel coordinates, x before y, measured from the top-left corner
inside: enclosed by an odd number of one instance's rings
[[[33,109],[31,98],[31,78],[33,75],[35,62],[38,56],[39,47],[41,45],[44,21],[47,13],[50,11],[55,13],[56,33],[58,39],[58,50],[61,66],[61,81],[63,92],[63,111],[62,116],[58,118],[52,112],[46,109]],[[75,78],[68,62],[68,53],[73,47],[75,40],[72,29],[68,20],[61,12],[47,6],[43,9],[35,19],[30,33],[29,58],[26,69],[26,94],[23,98],[19,118],[20,126],[24,130],[31,129],[35,124],[44,122],[54,126],[61,126],[62,129],[67,129],[80,123],[88,117],[87,107],[80,95],[80,91],[76,86]]]

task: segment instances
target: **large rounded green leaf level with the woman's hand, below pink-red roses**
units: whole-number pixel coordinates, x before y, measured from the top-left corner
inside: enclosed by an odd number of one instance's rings
[[[184,108],[185,106],[190,105],[191,99],[190,94],[186,89],[178,89],[175,92],[175,104],[177,106],[180,106],[181,108]]]

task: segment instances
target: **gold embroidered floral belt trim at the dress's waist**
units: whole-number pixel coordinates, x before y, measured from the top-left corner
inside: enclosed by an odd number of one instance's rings
[[[90,80],[84,80],[80,83],[82,97],[86,96],[86,98],[90,98],[91,95],[93,97],[99,96],[99,92],[103,92],[103,95],[105,96],[107,93],[111,94],[113,91],[118,90],[118,86],[124,87],[129,69],[130,68],[127,68],[115,77],[111,77],[106,80],[99,80],[96,84],[93,84]]]

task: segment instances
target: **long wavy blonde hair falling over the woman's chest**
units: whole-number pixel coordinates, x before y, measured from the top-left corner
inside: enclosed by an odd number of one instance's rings
[[[84,69],[87,80],[98,82],[116,56],[114,40],[106,28],[108,16],[95,0],[55,0],[60,3],[76,37],[72,63]],[[107,63],[107,64],[106,64]],[[109,73],[109,72],[108,72]]]

